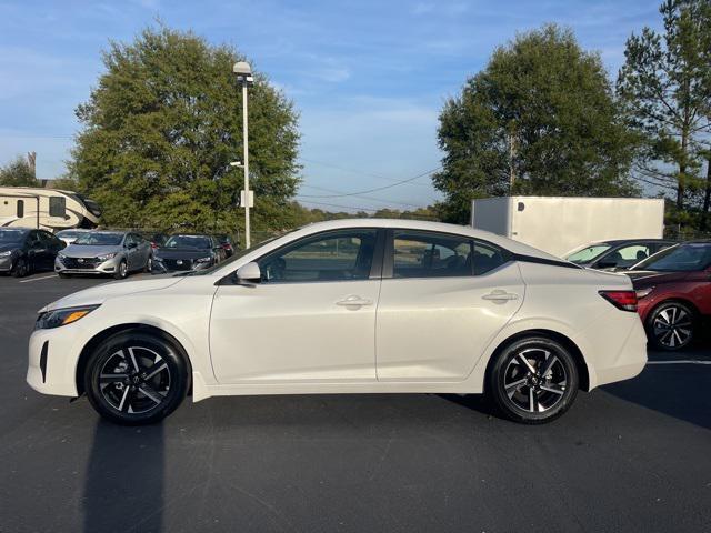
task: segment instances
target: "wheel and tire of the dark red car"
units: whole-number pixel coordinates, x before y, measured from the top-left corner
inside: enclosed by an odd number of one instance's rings
[[[659,304],[649,313],[644,329],[652,346],[674,352],[694,341],[698,324],[697,312],[690,305],[671,301]]]

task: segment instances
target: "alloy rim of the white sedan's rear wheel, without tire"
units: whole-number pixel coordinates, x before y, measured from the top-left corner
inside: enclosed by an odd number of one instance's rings
[[[529,413],[543,413],[563,399],[568,372],[560,358],[550,350],[527,348],[515,353],[503,372],[503,388],[509,402]]]

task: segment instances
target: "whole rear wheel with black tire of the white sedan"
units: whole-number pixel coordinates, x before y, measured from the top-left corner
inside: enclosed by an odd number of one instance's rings
[[[558,419],[575,400],[580,383],[578,365],[559,342],[527,336],[494,358],[487,376],[487,394],[504,418],[542,424]]]

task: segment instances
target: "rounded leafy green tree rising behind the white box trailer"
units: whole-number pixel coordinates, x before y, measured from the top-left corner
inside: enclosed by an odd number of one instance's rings
[[[440,114],[443,220],[469,220],[473,198],[629,195],[634,138],[620,120],[599,54],[548,24],[498,48]]]

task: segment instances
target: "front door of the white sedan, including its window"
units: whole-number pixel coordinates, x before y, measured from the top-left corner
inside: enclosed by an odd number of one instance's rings
[[[219,285],[210,318],[218,381],[375,381],[382,237],[372,228],[303,237],[258,261],[254,286]]]

